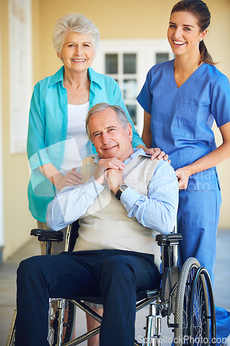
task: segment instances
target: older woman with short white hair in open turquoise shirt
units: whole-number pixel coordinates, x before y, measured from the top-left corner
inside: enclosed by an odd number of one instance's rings
[[[119,105],[133,127],[117,82],[90,68],[99,46],[93,22],[84,15],[64,15],[55,24],[53,44],[64,66],[35,85],[28,125],[29,209],[43,229],[48,228],[48,203],[64,186],[81,182],[76,167],[94,152],[85,131],[88,110],[99,102]],[[146,149],[134,127],[133,147]],[[154,156],[159,152],[150,151]]]

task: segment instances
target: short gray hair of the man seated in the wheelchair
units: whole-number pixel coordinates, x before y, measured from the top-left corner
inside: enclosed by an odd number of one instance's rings
[[[124,113],[122,107],[115,106],[115,105],[111,106],[111,104],[104,103],[104,102],[97,103],[97,104],[95,104],[95,106],[93,106],[88,111],[88,115],[86,117],[86,132],[88,134],[88,139],[92,143],[93,143],[93,140],[92,140],[92,138],[90,136],[90,130],[89,130],[89,127],[88,127],[88,121],[90,120],[91,116],[93,116],[96,113],[99,113],[100,111],[104,111],[105,109],[113,109],[113,111],[115,111],[115,113],[116,113],[117,121],[122,125],[122,127],[124,129],[127,129],[127,127],[128,127],[129,122],[128,122],[126,113]]]

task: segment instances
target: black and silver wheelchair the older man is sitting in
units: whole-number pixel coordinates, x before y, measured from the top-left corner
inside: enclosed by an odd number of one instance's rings
[[[70,236],[73,225],[68,226],[65,251],[70,250]],[[63,233],[51,230],[31,230],[30,235],[46,242],[46,254],[50,255],[52,242],[61,242]],[[162,318],[173,329],[175,346],[204,345],[215,346],[215,304],[211,280],[207,270],[198,260],[189,257],[182,269],[178,266],[178,244],[182,241],[180,233],[156,235],[161,247],[160,289],[137,292],[136,312],[149,306],[146,316],[145,335],[135,340],[135,346],[160,346],[162,337]],[[102,297],[75,297],[73,299],[50,299],[48,341],[50,346],[75,346],[99,334],[100,327],[73,339],[76,307],[88,313],[97,322],[102,322],[93,309],[85,302],[102,304]],[[15,311],[6,346],[15,346]],[[118,345],[118,343],[117,343]]]

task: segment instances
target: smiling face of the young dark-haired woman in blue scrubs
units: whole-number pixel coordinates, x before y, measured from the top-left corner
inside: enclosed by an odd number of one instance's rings
[[[207,30],[200,31],[197,19],[191,13],[181,11],[171,15],[167,36],[175,55],[200,55],[199,44],[206,34]]]

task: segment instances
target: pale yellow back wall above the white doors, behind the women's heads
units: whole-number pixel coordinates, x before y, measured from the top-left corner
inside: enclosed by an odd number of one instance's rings
[[[76,0],[41,0],[41,62],[42,77],[59,67],[52,48],[52,31],[57,18],[68,12],[79,12],[94,21],[102,39],[166,38],[171,8],[177,1],[117,0],[111,3],[98,0],[89,3]],[[209,35],[205,39],[213,59],[220,62],[218,69],[230,77],[228,35],[230,33],[229,0],[207,0],[211,12]],[[223,26],[224,23],[224,26]],[[224,27],[224,33],[223,28]]]

